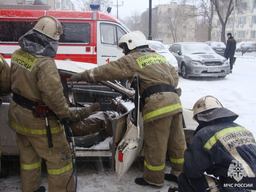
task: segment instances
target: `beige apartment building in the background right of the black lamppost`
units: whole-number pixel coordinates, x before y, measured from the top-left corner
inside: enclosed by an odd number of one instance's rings
[[[159,4],[152,8],[152,36],[164,44],[196,41],[196,17],[188,17],[195,12],[194,5],[181,5],[175,2]],[[141,18],[148,17],[148,11]],[[154,17],[159,17],[154,23]],[[148,36],[148,34],[145,34]]]

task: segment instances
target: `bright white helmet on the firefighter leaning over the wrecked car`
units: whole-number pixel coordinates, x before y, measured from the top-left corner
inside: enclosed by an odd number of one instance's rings
[[[123,43],[126,43],[130,50],[142,45],[148,45],[145,35],[140,31],[132,31],[122,36],[117,45],[118,50],[123,50]]]

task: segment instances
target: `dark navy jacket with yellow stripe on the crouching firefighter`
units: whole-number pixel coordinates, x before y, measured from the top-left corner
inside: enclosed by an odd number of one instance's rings
[[[255,179],[256,143],[252,132],[236,123],[224,123],[222,120],[214,124],[199,124],[184,153],[183,172],[190,178],[199,178],[206,172],[225,180],[232,160],[240,157],[245,161],[242,164],[248,169],[249,179]]]

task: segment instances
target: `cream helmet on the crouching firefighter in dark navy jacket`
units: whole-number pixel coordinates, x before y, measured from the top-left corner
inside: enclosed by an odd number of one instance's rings
[[[223,108],[223,106],[221,105],[220,101],[217,100],[215,97],[212,97],[210,95],[202,97],[201,99],[196,101],[193,107],[193,111],[194,111],[193,119],[196,121],[195,119],[196,114],[209,109],[213,109],[213,108]]]

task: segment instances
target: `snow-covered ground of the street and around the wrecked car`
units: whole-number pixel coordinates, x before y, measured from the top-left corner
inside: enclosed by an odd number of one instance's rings
[[[204,77],[183,79],[180,77],[179,87],[182,89],[181,102],[183,108],[192,109],[195,102],[203,96],[216,97],[225,108],[237,113],[236,123],[244,126],[256,136],[256,58],[238,56],[233,66],[233,73],[226,78]],[[18,163],[16,163],[18,164]],[[135,162],[122,179],[116,183],[117,174],[106,164],[95,166],[94,163],[79,163],[78,192],[167,192],[176,183],[164,181],[162,187],[143,187],[136,185],[134,179],[143,175],[143,161]],[[170,163],[166,162],[166,173],[170,172]],[[0,191],[18,192],[20,189],[19,166],[11,166],[10,176],[0,179]],[[42,185],[47,188],[47,171],[42,169]],[[48,190],[46,190],[48,191]]]

